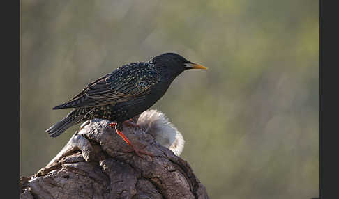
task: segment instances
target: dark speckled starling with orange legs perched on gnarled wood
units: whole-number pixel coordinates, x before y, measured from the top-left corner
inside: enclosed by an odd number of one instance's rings
[[[94,118],[105,119],[111,122],[110,127],[114,127],[116,133],[140,155],[142,150],[135,148],[123,134],[123,123],[136,125],[131,118],[140,115],[160,100],[174,79],[190,69],[206,70],[207,67],[190,62],[173,52],[154,56],[146,62],[122,65],[89,83],[72,99],[54,106],[54,110],[73,110],[46,132],[51,137],[57,137],[78,123]]]

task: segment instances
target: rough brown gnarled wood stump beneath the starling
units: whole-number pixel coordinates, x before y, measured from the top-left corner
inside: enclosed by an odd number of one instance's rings
[[[21,198],[209,198],[189,164],[145,129],[123,133],[154,157],[137,156],[108,124],[91,120],[45,168],[21,177]]]

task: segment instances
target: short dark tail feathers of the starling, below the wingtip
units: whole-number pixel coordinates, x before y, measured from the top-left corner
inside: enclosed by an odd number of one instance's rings
[[[85,115],[77,116],[77,114],[75,114],[75,113],[76,113],[76,109],[73,110],[72,112],[68,113],[66,118],[63,118],[60,122],[57,122],[55,125],[53,125],[49,129],[47,129],[46,132],[51,137],[54,137],[54,138],[59,136],[66,129],[77,124],[77,122],[80,122],[85,116]]]

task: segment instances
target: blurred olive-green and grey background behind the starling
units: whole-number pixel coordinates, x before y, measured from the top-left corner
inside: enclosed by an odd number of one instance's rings
[[[319,1],[21,1],[20,173],[79,125],[52,107],[120,65],[174,51],[209,67],[151,109],[183,134],[211,198],[319,196]]]

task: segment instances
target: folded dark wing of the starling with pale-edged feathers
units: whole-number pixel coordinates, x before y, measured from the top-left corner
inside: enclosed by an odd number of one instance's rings
[[[123,65],[114,72],[89,83],[70,101],[53,109],[104,106],[126,102],[146,95],[149,88],[160,81],[160,74],[149,63]]]

